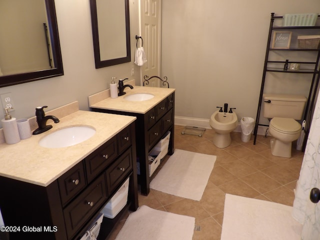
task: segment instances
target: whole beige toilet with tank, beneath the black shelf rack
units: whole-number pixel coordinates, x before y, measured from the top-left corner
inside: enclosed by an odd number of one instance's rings
[[[270,119],[268,131],[271,154],[291,157],[292,141],[300,136],[301,125],[296,120],[302,118],[306,97],[291,94],[263,94],[263,116]]]

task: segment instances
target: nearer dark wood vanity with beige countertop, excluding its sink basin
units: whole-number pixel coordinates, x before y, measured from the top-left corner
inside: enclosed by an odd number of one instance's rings
[[[79,239],[128,177],[122,212],[138,207],[135,117],[77,110],[59,119],[44,133],[0,144],[0,208],[10,240]],[[70,125],[96,132],[68,147],[38,145],[45,135]],[[98,239],[106,238],[118,218],[104,217],[104,236]]]

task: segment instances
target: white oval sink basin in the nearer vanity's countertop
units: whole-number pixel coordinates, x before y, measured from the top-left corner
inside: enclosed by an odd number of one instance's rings
[[[95,129],[90,126],[69,126],[43,137],[39,145],[48,148],[72,146],[89,139],[94,133]]]

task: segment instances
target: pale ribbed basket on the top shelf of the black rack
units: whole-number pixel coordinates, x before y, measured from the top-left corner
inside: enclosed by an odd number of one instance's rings
[[[284,14],[283,26],[314,26],[318,13]]]

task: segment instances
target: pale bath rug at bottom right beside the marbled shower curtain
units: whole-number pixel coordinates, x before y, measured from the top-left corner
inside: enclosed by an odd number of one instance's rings
[[[221,240],[300,240],[302,225],[291,212],[292,206],[226,194]]]

